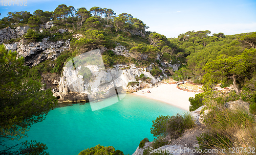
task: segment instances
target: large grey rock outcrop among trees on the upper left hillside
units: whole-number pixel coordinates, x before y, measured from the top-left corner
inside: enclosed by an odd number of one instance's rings
[[[12,44],[5,44],[9,50],[16,50],[19,56],[25,58],[27,66],[35,66],[39,63],[52,59],[55,60],[62,51],[70,48],[70,39],[67,41],[48,41],[48,38],[42,39],[40,42],[31,42],[26,44],[24,40]]]

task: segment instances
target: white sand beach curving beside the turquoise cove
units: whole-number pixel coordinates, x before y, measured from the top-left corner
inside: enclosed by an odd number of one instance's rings
[[[147,93],[148,89],[151,91],[151,93]],[[138,96],[166,102],[167,104],[179,107],[187,111],[189,111],[189,106],[190,106],[190,102],[188,101],[188,98],[195,97],[195,95],[197,94],[195,92],[186,92],[183,90],[179,90],[176,84],[174,85],[161,84],[158,87],[147,88],[143,90],[144,90],[144,94],[142,94],[142,90],[140,90],[132,93],[132,95],[138,95]]]

